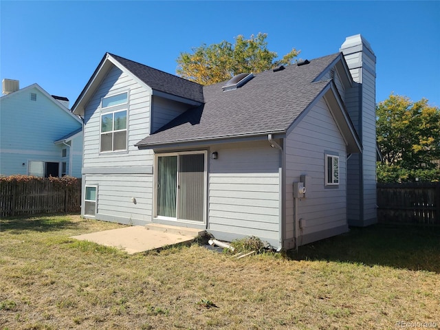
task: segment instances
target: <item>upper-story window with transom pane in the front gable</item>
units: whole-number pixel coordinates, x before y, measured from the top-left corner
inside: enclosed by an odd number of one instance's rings
[[[101,100],[100,151],[126,150],[128,92],[107,96]]]

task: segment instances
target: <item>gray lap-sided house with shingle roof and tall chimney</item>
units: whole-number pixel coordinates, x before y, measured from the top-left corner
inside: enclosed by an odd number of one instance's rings
[[[360,35],[210,86],[107,53],[73,107],[85,122],[82,214],[278,250],[374,223],[374,70]]]

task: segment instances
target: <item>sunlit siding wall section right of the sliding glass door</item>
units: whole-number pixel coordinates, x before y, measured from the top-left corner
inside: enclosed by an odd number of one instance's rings
[[[276,241],[279,151],[268,142],[217,146],[210,161],[208,230]]]

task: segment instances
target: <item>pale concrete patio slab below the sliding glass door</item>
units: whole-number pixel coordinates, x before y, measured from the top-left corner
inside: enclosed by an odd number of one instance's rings
[[[170,225],[133,225],[125,228],[91,232],[73,239],[91,241],[100,245],[119,248],[128,254],[163,248],[166,245],[189,242],[204,234],[204,230]]]

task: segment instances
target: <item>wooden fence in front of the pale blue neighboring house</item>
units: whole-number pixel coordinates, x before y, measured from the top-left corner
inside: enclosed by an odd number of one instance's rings
[[[0,217],[23,214],[80,212],[81,179],[0,177]]]

